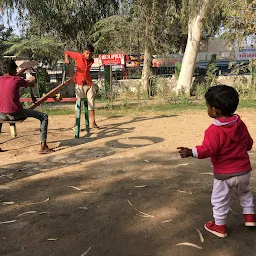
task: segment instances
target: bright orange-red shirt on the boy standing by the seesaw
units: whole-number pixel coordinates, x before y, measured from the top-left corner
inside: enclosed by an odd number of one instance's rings
[[[87,85],[91,86],[92,78],[90,75],[90,68],[94,63],[94,60],[92,59],[88,61],[84,58],[84,55],[79,52],[66,51],[65,54],[76,62],[76,73],[74,76],[75,83],[82,86],[83,83],[86,82]]]

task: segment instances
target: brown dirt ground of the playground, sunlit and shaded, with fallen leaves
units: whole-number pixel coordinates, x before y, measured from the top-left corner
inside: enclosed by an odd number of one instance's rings
[[[254,111],[239,113],[256,139]],[[79,139],[73,122],[50,116],[50,155],[37,154],[36,120],[18,124],[15,139],[3,127],[0,147],[9,151],[0,155],[0,255],[256,255],[256,229],[243,226],[235,198],[229,236],[204,230],[212,219],[210,161],[177,154],[177,146],[201,143],[212,122],[206,111],[98,117],[102,129]],[[256,169],[255,146],[250,156]],[[201,249],[177,245],[184,242]]]

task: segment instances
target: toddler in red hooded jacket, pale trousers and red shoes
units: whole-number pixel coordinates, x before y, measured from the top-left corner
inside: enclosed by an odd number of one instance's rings
[[[205,94],[208,115],[213,124],[205,131],[201,146],[179,147],[182,158],[211,158],[214,183],[211,203],[214,220],[205,229],[218,237],[226,237],[226,217],[232,191],[239,197],[245,226],[256,226],[253,196],[249,186],[251,164],[247,151],[253,140],[246,125],[234,112],[239,103],[237,91],[226,85],[213,86]]]

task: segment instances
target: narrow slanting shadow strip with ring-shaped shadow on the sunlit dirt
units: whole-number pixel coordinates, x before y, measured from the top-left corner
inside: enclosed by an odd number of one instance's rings
[[[68,146],[69,143],[71,143],[71,147],[74,147],[74,141],[77,142],[77,145],[79,146],[81,142],[85,143],[86,139],[82,139],[82,141],[80,139],[65,141],[66,144],[62,143],[62,147],[65,147],[65,145]],[[126,138],[110,140],[102,147],[79,147],[63,153],[57,151],[58,153],[56,154],[52,153],[35,160],[25,160],[14,164],[3,165],[0,168],[0,174],[5,175],[6,172],[12,170],[13,179],[17,177],[24,178],[40,172],[51,171],[55,169],[56,166],[58,166],[58,168],[73,166],[74,164],[81,164],[86,161],[104,158],[116,153],[125,152],[131,148],[146,147],[162,141],[164,141],[163,138],[147,136],[130,137],[129,140]],[[88,143],[88,141],[86,143]]]

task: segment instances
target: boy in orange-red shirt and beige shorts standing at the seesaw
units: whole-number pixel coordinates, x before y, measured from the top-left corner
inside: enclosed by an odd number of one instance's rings
[[[87,98],[92,127],[99,128],[95,121],[93,82],[90,75],[90,68],[94,63],[93,53],[93,46],[88,44],[83,53],[65,51],[64,54],[66,64],[70,63],[69,57],[76,62],[76,73],[74,76],[76,97]]]

